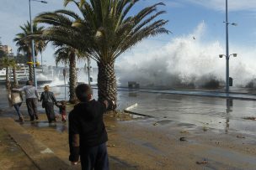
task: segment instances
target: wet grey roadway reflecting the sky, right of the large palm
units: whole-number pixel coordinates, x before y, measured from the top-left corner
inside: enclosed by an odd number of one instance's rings
[[[253,135],[256,122],[244,120],[256,116],[253,100],[232,100],[208,96],[169,95],[122,92],[120,100],[137,103],[130,109],[157,118],[207,126],[221,131],[237,131]]]

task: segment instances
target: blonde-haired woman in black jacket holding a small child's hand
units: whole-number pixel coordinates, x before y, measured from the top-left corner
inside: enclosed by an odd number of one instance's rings
[[[49,85],[45,85],[44,92],[42,92],[40,101],[42,102],[42,107],[45,108],[45,113],[49,123],[56,121],[56,116],[54,113],[54,104],[56,104],[56,98],[53,92],[50,91]]]

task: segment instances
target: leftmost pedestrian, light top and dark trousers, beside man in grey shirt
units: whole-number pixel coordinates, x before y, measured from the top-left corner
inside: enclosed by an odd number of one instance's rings
[[[14,86],[15,88],[19,88],[18,85]],[[13,87],[11,87],[11,89],[13,89]],[[13,90],[8,90],[8,100],[9,100],[9,105],[13,106],[15,111],[17,112],[18,116],[19,116],[19,120],[23,122],[23,116],[21,114],[21,112],[19,111],[19,107],[21,106],[22,102],[23,102],[23,96],[22,96],[22,92],[20,91],[13,91]]]

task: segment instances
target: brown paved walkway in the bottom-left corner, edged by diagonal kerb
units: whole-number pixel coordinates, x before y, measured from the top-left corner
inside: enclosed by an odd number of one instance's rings
[[[68,148],[67,148],[68,149]],[[15,151],[15,152],[13,152]],[[6,170],[76,170],[80,165],[71,166],[32,137],[29,131],[12,118],[0,117],[0,169]],[[110,169],[133,169],[118,157],[109,156]]]

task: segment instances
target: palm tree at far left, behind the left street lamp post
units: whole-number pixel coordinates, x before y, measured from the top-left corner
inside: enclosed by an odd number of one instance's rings
[[[27,23],[24,24],[24,26],[20,26],[22,29],[21,33],[16,34],[16,38],[13,39],[14,42],[16,42],[16,46],[18,46],[18,53],[23,52],[26,54],[29,58],[29,80],[34,79],[34,73],[33,73],[33,59],[32,59],[32,36],[31,36],[31,28],[30,23],[27,21]],[[43,33],[44,27],[37,27],[36,23],[33,23],[33,34],[41,34]],[[38,53],[42,53],[43,50],[45,50],[46,42],[43,39],[35,39],[35,56]]]

